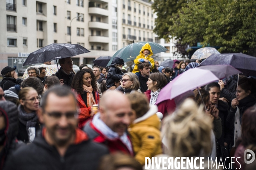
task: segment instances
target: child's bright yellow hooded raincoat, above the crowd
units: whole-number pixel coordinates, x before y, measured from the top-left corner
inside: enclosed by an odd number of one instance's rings
[[[143,54],[143,50],[149,50],[150,53],[148,54],[147,57],[145,57],[145,55]],[[136,57],[136,59],[134,59],[134,70],[132,71],[132,73],[137,73],[140,72],[138,69],[138,64],[140,64],[140,59],[147,59],[150,63],[151,63],[151,68],[150,71],[154,68],[154,59],[151,58],[151,56],[153,55],[153,52],[151,50],[151,46],[147,43],[145,43],[145,45],[143,45],[143,47],[140,50],[140,54]]]

